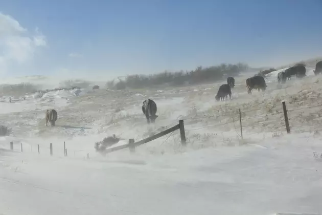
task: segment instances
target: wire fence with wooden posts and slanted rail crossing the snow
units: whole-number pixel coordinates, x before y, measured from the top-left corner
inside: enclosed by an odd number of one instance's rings
[[[298,101],[305,101],[305,100],[309,100],[309,99],[320,99],[322,97],[317,97],[317,98],[313,98],[313,97],[310,97],[308,99],[303,99],[303,100],[297,100],[297,101],[294,101],[294,102],[289,102],[290,104],[294,104],[295,102],[298,102]],[[300,116],[291,116],[289,117],[288,114],[290,113],[293,113],[294,111],[298,111],[298,110],[305,110],[305,109],[312,109],[312,108],[315,108],[315,107],[320,107],[321,105],[313,105],[313,106],[306,106],[306,107],[302,107],[302,108],[298,108],[298,109],[290,109],[288,110],[287,109],[287,105],[286,105],[286,102],[283,101],[281,102],[282,105],[281,105],[281,109],[280,110],[275,110],[276,113],[269,113],[269,114],[265,114],[265,115],[262,115],[262,116],[252,116],[252,117],[245,117],[245,113],[249,113],[249,112],[252,112],[252,111],[259,111],[259,110],[263,110],[267,107],[277,107],[276,104],[272,104],[272,105],[267,105],[261,109],[252,109],[252,110],[246,110],[246,111],[241,111],[241,109],[239,110],[236,110],[236,111],[229,111],[229,114],[223,114],[223,115],[214,115],[214,116],[203,116],[203,117],[194,117],[194,118],[186,118],[184,120],[193,120],[193,119],[203,119],[203,118],[217,118],[217,117],[233,117],[233,121],[229,121],[229,122],[225,122],[225,123],[219,123],[219,124],[213,124],[213,125],[205,125],[205,126],[202,126],[202,127],[197,127],[197,128],[191,128],[191,129],[188,129],[188,130],[185,130],[185,125],[183,123],[183,119],[179,120],[179,122],[168,128],[167,130],[165,131],[162,131],[162,132],[159,132],[153,136],[150,136],[150,137],[147,137],[143,140],[140,140],[140,141],[136,141],[134,139],[129,139],[128,143],[127,144],[123,144],[123,145],[119,145],[119,146],[113,146],[113,147],[109,147],[107,149],[105,149],[103,152],[101,152],[103,155],[106,155],[108,153],[112,153],[112,152],[115,152],[115,151],[118,151],[118,150],[121,150],[121,149],[125,149],[125,148],[129,148],[130,152],[131,153],[134,153],[135,152],[135,148],[140,146],[140,145],[143,145],[143,144],[146,144],[148,142],[151,142],[157,138],[160,138],[160,137],[163,137],[167,134],[169,134],[169,136],[167,136],[167,138],[162,142],[162,144],[164,144],[168,139],[169,137],[173,136],[174,134],[174,131],[176,130],[179,130],[180,131],[180,139],[181,139],[181,145],[182,146],[186,146],[187,144],[187,140],[186,140],[186,131],[187,132],[190,132],[190,131],[196,131],[196,130],[201,130],[202,128],[206,128],[206,127],[219,127],[219,126],[223,126],[223,125],[227,125],[227,124],[231,124],[233,123],[234,124],[234,128],[232,130],[235,130],[235,132],[241,137],[241,139],[244,138],[244,134],[245,131],[243,130],[243,128],[246,128],[246,127],[255,127],[256,125],[268,125],[268,124],[271,124],[271,123],[279,123],[278,125],[280,126],[281,124],[285,126],[285,130],[287,134],[290,134],[291,131],[297,131],[297,130],[305,130],[306,128],[309,128],[311,130],[311,128],[314,128],[316,129],[316,125],[320,125],[322,124],[321,123],[314,123],[313,126],[308,126],[308,127],[300,127],[300,126],[294,126],[294,123],[293,122],[298,122],[298,121],[294,121],[296,119],[305,119],[305,118],[308,118],[308,117],[316,117],[318,116],[319,118],[317,118],[316,120],[318,119],[321,119],[322,121],[322,118],[320,116],[322,116],[322,113],[321,115],[318,114],[318,113],[309,113],[308,116],[302,116],[302,114]],[[271,111],[271,110],[269,110]],[[280,112],[279,112],[280,111]],[[260,119],[263,119],[263,118],[267,118],[269,117],[270,115],[278,115],[280,114],[281,115],[281,118],[279,120],[271,120],[271,121],[259,121]],[[314,115],[312,115],[314,114]],[[236,119],[236,122],[235,122],[235,117],[239,115],[239,120]],[[292,115],[292,114],[291,114]],[[243,118],[244,116],[244,118]],[[250,122],[247,123],[248,120],[250,119],[258,119],[257,122]],[[315,120],[315,119],[312,119],[312,120]],[[236,127],[236,123],[239,121],[239,124],[240,124],[240,134],[237,132],[237,128]],[[171,123],[173,124],[173,123]],[[169,124],[169,125],[171,125]],[[169,126],[167,125],[167,126]],[[167,127],[166,126],[166,127]],[[218,131],[216,132],[216,134],[218,133],[225,133],[225,132],[232,132],[232,130],[229,130],[229,131]],[[322,128],[321,128],[322,130]],[[245,133],[247,135],[251,135],[251,134],[259,134],[259,133],[276,133],[276,132],[283,132],[281,130],[271,130],[271,131],[259,131],[259,132],[255,132],[255,133]],[[161,144],[161,145],[162,145]],[[45,147],[47,148],[48,150],[48,147]],[[14,149],[14,144],[13,142],[11,141],[10,142],[10,149],[13,150]],[[38,149],[38,154],[40,155],[40,146],[39,144],[37,144],[37,149]],[[24,152],[24,147],[22,146],[22,143],[20,143],[20,150],[21,150],[21,153]],[[32,149],[31,149],[32,150]],[[66,148],[66,144],[65,142],[63,142],[63,151],[64,151],[64,157],[67,157],[67,148]],[[74,154],[77,150],[74,150]],[[83,151],[83,150],[82,150]],[[47,151],[48,152],[48,151]],[[84,152],[84,151],[83,151]],[[49,144],[49,155],[50,156],[53,156],[54,155],[54,152],[53,152],[53,144],[50,143]],[[89,159],[89,153],[87,153],[87,159]]]

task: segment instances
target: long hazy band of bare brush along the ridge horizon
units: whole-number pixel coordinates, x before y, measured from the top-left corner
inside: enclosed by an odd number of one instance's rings
[[[180,86],[184,84],[198,84],[215,82],[227,76],[236,76],[249,69],[245,63],[225,64],[213,67],[198,67],[192,71],[163,72],[150,75],[129,75],[124,80],[112,80],[106,83],[108,89],[123,90],[126,88],[151,88],[157,85]]]

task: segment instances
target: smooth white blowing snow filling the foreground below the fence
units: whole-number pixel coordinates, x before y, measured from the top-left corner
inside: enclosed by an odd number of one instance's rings
[[[179,155],[1,152],[3,214],[273,214],[320,211],[321,137]]]

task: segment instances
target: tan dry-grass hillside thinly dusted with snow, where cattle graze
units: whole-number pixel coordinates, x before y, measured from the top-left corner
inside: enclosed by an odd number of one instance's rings
[[[286,101],[291,132],[312,132],[317,136],[322,129],[322,86],[319,85],[319,78],[307,76],[302,80],[292,79],[282,87],[276,82],[269,82],[264,94],[254,91],[252,95],[248,95],[245,77],[238,77],[235,78],[236,86],[232,90],[232,100],[229,101],[216,101],[214,98],[222,83],[176,89],[97,90],[95,93],[70,99],[69,106],[58,110],[57,125],[97,126],[95,131],[85,130],[85,133],[124,132],[124,138],[141,140],[166,130],[181,118],[185,119],[187,142],[192,149],[240,146],[248,144],[258,134],[262,138],[283,136],[285,122],[282,101]],[[159,117],[154,125],[147,125],[141,110],[146,98],[157,100]],[[176,98],[181,98],[182,101],[164,103],[167,99]],[[242,113],[244,140],[241,140],[240,134],[239,109]],[[33,120],[36,115],[41,118],[38,124],[23,124],[22,120]],[[13,115],[1,115],[0,120],[10,121],[9,118],[12,117]],[[43,111],[19,113],[14,117],[15,123],[20,120],[21,133],[18,135],[21,136],[29,134],[30,130],[39,130],[36,133],[39,136],[57,136],[58,133],[74,135],[71,130],[59,126],[54,129],[45,127]],[[186,149],[181,147],[178,131],[169,135],[140,148],[152,154],[185,152]]]

